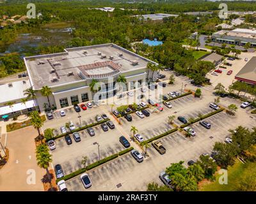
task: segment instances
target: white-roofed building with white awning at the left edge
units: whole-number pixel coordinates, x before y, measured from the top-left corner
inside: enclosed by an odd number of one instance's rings
[[[21,102],[22,98],[26,98],[24,91],[30,87],[29,80],[19,80],[0,85],[0,117],[3,115],[12,115],[12,113],[20,111],[27,113],[34,110],[35,103],[33,100],[27,101],[26,104]],[[13,103],[12,107],[7,105],[8,102]]]

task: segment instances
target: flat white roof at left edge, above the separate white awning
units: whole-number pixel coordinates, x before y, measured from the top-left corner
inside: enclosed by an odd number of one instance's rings
[[[24,91],[30,88],[29,80],[0,85],[0,103],[26,98]]]

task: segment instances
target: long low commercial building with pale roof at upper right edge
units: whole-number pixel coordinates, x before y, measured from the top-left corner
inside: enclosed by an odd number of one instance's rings
[[[232,31],[221,30],[211,36],[211,40],[216,43],[227,43],[230,45],[244,46],[250,43],[251,47],[256,47],[256,30],[234,29]]]

